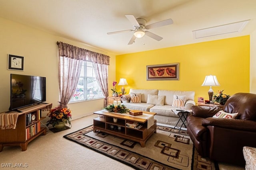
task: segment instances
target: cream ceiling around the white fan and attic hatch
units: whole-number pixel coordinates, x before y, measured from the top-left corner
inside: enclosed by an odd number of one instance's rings
[[[147,25],[171,18],[174,23],[150,29],[163,39],[144,36],[127,45],[133,29],[125,17]],[[256,0],[0,0],[0,17],[79,41],[115,55],[250,35],[256,30]],[[250,20],[240,32],[195,39],[194,30]]]

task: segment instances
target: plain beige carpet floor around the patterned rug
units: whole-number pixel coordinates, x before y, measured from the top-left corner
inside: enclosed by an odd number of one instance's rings
[[[77,143],[64,139],[63,136],[84,127],[92,125],[90,115],[72,121],[71,129],[53,133],[48,131],[45,136],[39,136],[28,144],[24,152],[20,147],[4,147],[0,152],[0,169],[17,168],[2,167],[2,164],[28,164],[26,170],[131,170],[130,166],[120,163],[108,156],[95,152]],[[220,165],[219,165],[220,166]],[[221,164],[220,170],[242,170],[244,167]]]

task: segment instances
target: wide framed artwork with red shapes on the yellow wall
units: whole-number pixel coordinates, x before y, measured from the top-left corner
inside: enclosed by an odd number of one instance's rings
[[[179,63],[149,65],[147,80],[179,80]]]

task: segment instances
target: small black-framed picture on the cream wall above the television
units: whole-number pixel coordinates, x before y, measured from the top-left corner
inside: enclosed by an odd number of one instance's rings
[[[24,70],[24,57],[8,54],[8,70]]]

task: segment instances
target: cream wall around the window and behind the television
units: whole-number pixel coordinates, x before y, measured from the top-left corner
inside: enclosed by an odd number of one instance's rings
[[[58,37],[26,25],[0,18],[0,112],[10,106],[10,74],[46,77],[46,102],[58,106],[58,46],[62,41],[84,49],[110,56],[109,80],[115,78],[115,56],[89,45]],[[8,70],[8,54],[24,57],[24,71]],[[111,88],[110,84],[110,88]],[[103,99],[68,104],[72,119],[92,114],[104,107]],[[44,112],[45,115],[47,112]]]

